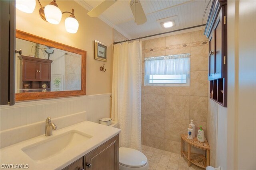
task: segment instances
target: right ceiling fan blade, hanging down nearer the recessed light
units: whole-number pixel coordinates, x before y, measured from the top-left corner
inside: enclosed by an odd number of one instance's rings
[[[132,10],[132,14],[135,18],[135,22],[137,23],[137,25],[141,25],[147,21],[146,15],[143,11],[143,8],[142,8],[139,0],[131,0],[130,8]],[[135,10],[135,8],[136,8],[136,10]],[[136,12],[136,14],[135,14],[135,12]]]

